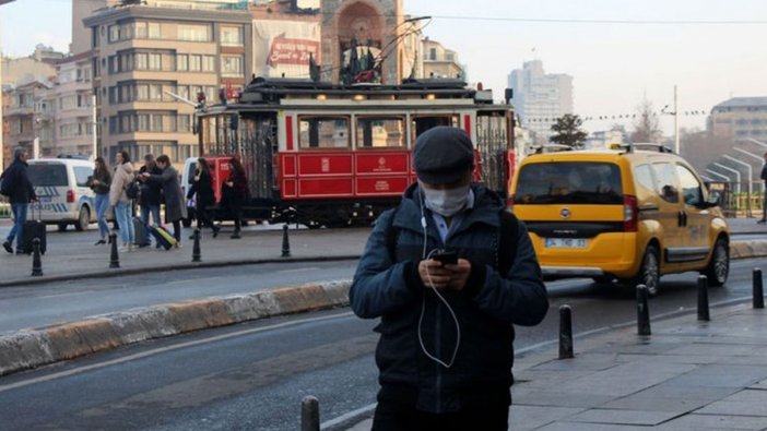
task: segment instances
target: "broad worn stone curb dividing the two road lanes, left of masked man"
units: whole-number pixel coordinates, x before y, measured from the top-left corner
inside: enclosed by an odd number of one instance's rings
[[[143,307],[0,336],[0,375],[152,338],[344,307],[350,280]]]

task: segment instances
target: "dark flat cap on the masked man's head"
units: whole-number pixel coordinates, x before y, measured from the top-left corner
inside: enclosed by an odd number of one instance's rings
[[[461,129],[438,125],[422,133],[413,148],[413,168],[421,181],[449,184],[474,167],[474,145]]]

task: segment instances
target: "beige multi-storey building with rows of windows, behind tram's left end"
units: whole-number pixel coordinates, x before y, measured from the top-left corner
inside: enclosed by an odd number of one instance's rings
[[[91,28],[99,153],[109,159],[119,149],[133,159],[197,156],[192,105],[202,97],[219,101],[222,88],[232,96],[251,74],[247,3],[144,1],[96,10],[84,24]]]

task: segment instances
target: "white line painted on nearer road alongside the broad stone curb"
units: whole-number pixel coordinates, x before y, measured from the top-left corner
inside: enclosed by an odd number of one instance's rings
[[[339,314],[323,315],[323,316],[319,316],[319,318],[302,319],[298,321],[283,322],[283,323],[278,323],[278,324],[269,325],[269,326],[255,327],[251,330],[237,331],[237,332],[229,333],[229,334],[216,335],[214,337],[210,337],[210,338],[205,338],[205,339],[198,339],[198,340],[193,340],[193,342],[180,343],[180,344],[173,345],[173,346],[160,347],[156,349],[142,351],[140,354],[134,354],[134,355],[126,356],[122,358],[113,359],[113,360],[109,360],[106,362],[94,363],[92,366],[85,366],[85,367],[74,368],[74,369],[67,370],[67,371],[60,371],[60,372],[52,373],[49,375],[44,375],[40,378],[30,379],[30,380],[16,382],[16,383],[11,383],[11,384],[7,384],[7,385],[0,385],[0,393],[15,390],[19,387],[30,386],[30,385],[37,384],[37,383],[49,382],[51,380],[68,378],[70,375],[81,374],[81,373],[84,373],[84,372],[91,371],[91,370],[98,370],[102,368],[111,367],[111,366],[116,366],[116,364],[123,363],[123,362],[129,362],[129,361],[132,361],[135,359],[143,359],[143,358],[148,358],[148,357],[151,357],[154,355],[164,354],[166,351],[173,351],[173,350],[184,349],[187,347],[199,346],[199,345],[203,345],[206,343],[221,342],[224,339],[235,338],[235,337],[239,337],[243,335],[256,334],[256,333],[260,333],[260,332],[279,330],[279,328],[288,327],[288,326],[297,326],[297,325],[305,324],[305,323],[321,322],[321,321],[328,321],[328,320],[333,320],[333,319],[347,318],[350,315],[354,315],[354,313],[352,313],[351,311],[347,311],[347,312],[339,313]]]

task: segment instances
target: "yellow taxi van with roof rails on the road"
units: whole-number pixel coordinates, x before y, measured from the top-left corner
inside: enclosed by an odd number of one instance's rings
[[[664,274],[727,282],[730,232],[718,201],[682,157],[651,144],[527,156],[509,193],[544,276],[644,284],[651,296]]]

